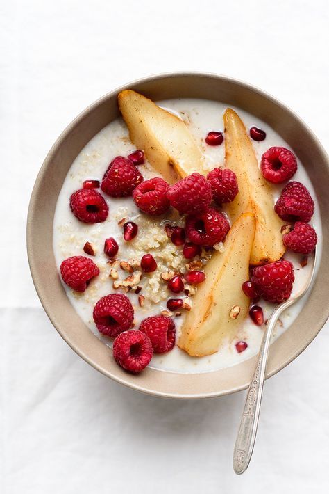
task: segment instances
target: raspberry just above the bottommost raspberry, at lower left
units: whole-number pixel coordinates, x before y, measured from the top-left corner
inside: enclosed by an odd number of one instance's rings
[[[92,316],[99,333],[117,336],[131,328],[134,319],[133,305],[126,295],[106,295],[96,303]]]

